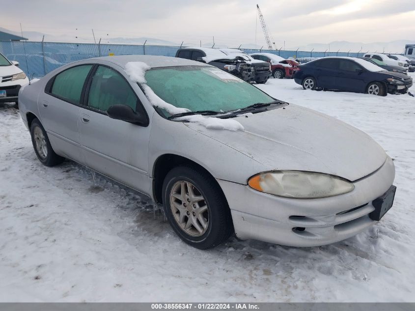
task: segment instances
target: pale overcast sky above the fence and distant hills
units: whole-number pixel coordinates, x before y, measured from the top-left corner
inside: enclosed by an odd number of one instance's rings
[[[331,41],[415,41],[415,0],[1,0],[0,27],[96,37],[265,45],[256,3],[279,48]],[[78,30],[76,30],[78,28]],[[256,29],[256,31],[255,31]],[[256,35],[255,35],[256,34]]]

